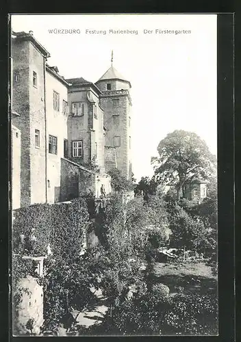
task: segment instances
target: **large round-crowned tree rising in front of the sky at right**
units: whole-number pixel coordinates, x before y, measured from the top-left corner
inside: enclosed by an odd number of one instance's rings
[[[169,133],[157,151],[160,157],[152,158],[156,179],[174,186],[177,200],[188,181],[199,177],[207,179],[215,170],[216,157],[196,133],[182,130]]]

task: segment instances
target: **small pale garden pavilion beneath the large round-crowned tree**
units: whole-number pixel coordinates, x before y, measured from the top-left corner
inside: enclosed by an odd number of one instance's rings
[[[186,183],[183,197],[188,200],[203,200],[203,198],[207,197],[207,182],[200,179],[194,179],[189,183]]]

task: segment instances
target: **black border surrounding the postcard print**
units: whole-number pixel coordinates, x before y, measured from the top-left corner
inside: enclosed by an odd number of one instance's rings
[[[112,3],[112,11],[110,11],[110,3]],[[58,12],[61,13],[58,3]],[[123,3],[113,2],[103,3],[99,13],[151,13],[151,12],[168,12],[167,6],[155,5],[153,1],[132,1],[129,6]],[[151,4],[153,6],[151,6]],[[34,2],[34,11],[29,10],[28,1],[12,0],[8,12],[9,13],[51,13],[48,6],[43,10],[42,3]],[[124,6],[123,6],[124,5]],[[173,1],[169,1],[170,12],[173,10]],[[211,1],[209,10],[205,12],[217,12],[212,8]],[[227,1],[219,1],[218,12],[233,12],[233,3]],[[124,7],[124,8],[123,8]],[[129,8],[128,8],[129,7]],[[152,9],[151,9],[152,7]],[[204,7],[204,6],[203,6]],[[215,7],[215,6],[214,6]],[[93,13],[94,1],[81,4],[79,12]],[[128,9],[127,9],[128,8]],[[207,8],[207,6],[206,6]],[[185,5],[180,3],[175,8],[175,13],[186,12]],[[66,10],[62,10],[62,13]],[[67,11],[68,12],[68,11]],[[187,12],[190,11],[190,6]],[[195,10],[193,13],[196,12]],[[5,29],[6,17],[1,21],[3,28],[1,30],[1,47],[3,50],[3,58],[1,59],[1,96],[3,100],[0,102],[1,108],[1,233],[0,233],[0,260],[8,261],[8,119],[5,113],[8,113],[8,29]],[[3,61],[3,62],[2,62]],[[6,82],[4,82],[6,80]],[[5,100],[5,101],[4,101]],[[5,177],[6,176],[6,177]],[[219,221],[219,299],[220,299],[220,335],[218,337],[177,337],[179,341],[234,341],[234,296],[233,296],[233,276],[234,276],[234,227],[233,227],[233,14],[218,15],[218,221]],[[0,287],[0,307],[1,307],[1,341],[8,341],[8,262],[0,263],[1,267],[1,287]],[[98,339],[112,339],[112,337],[98,337]],[[125,337],[127,339],[143,340],[146,337]],[[160,337],[148,337],[148,339],[160,339]],[[37,338],[38,339],[38,338]],[[52,341],[53,337],[42,337],[41,341]],[[61,339],[61,337],[60,337]],[[95,337],[81,337],[81,339],[95,339]],[[123,337],[114,337],[114,339],[123,339]],[[162,337],[169,341],[175,341],[176,337]],[[12,341],[25,341],[25,337],[14,337]],[[27,341],[35,341],[35,337],[27,337]],[[63,341],[77,341],[77,337],[63,337]]]

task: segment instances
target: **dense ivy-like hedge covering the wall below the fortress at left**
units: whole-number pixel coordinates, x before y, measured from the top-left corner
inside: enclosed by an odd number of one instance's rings
[[[88,222],[86,202],[31,205],[14,212],[12,249],[16,254],[42,256],[51,246],[54,254],[72,260],[81,252]],[[68,239],[66,239],[68,237]]]

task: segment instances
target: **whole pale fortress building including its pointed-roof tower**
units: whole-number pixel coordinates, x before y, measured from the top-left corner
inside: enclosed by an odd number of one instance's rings
[[[64,79],[32,31],[12,32],[11,57],[12,208],[109,194],[112,168],[131,179],[131,83],[113,66]]]

